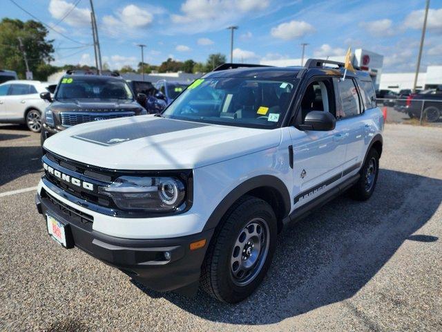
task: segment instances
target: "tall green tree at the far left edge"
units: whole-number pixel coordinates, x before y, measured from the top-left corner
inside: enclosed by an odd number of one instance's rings
[[[29,69],[35,80],[46,80],[48,73],[56,68],[48,63],[53,60],[53,40],[47,40],[48,30],[37,21],[23,22],[4,18],[0,21],[0,68],[16,71],[20,78],[26,77],[23,54],[19,49],[19,37],[28,57]]]

